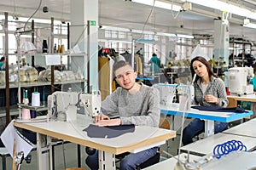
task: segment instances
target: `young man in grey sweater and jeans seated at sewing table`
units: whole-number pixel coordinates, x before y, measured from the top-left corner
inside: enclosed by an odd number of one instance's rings
[[[123,60],[113,65],[116,82],[119,83],[113,94],[102,101],[102,114],[95,117],[98,126],[137,126],[158,127],[160,123],[160,94],[156,88],[136,82],[137,72]],[[135,107],[136,105],[136,107]],[[108,114],[118,113],[119,118],[110,119]],[[138,153],[129,153],[120,161],[120,170],[135,170],[138,165],[154,156],[158,148],[153,147]],[[98,152],[86,158],[86,164],[97,170]]]

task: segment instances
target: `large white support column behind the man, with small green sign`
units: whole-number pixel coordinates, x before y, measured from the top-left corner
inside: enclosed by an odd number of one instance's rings
[[[79,44],[84,56],[72,56],[72,70],[84,71],[87,79],[87,20],[90,22],[90,87],[98,90],[98,1],[76,0],[71,3],[70,41],[71,48]],[[95,21],[95,22],[94,22]],[[95,24],[94,24],[95,23]],[[87,84],[85,84],[86,86]],[[84,88],[86,89],[86,87]]]

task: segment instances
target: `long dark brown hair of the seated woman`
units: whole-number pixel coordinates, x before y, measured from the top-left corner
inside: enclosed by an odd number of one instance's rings
[[[201,56],[197,56],[195,57],[194,59],[191,60],[191,63],[190,63],[190,71],[191,71],[191,75],[192,75],[192,78],[194,77],[195,75],[195,70],[193,68],[193,63],[194,61],[200,61],[203,65],[206,65],[207,66],[207,71],[208,71],[208,76],[209,76],[209,80],[211,81],[211,77],[217,77],[214,72],[212,71],[212,67],[210,65],[210,63],[207,61],[207,59],[201,57]],[[197,82],[197,80],[199,79],[200,77],[196,75],[195,77],[195,82]]]

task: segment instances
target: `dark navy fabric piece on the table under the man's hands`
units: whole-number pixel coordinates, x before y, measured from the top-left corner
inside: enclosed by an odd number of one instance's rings
[[[133,133],[135,130],[134,125],[121,125],[113,127],[99,127],[90,124],[89,127],[84,128],[83,131],[87,132],[90,138],[105,138],[111,139],[118,137],[125,133]]]

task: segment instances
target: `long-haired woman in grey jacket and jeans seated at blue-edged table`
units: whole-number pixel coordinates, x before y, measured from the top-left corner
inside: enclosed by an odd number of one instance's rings
[[[190,71],[192,77],[196,74],[194,104],[221,107],[226,107],[229,104],[224,82],[213,73],[207,59],[199,56],[192,59]],[[227,122],[214,122],[214,133],[222,132],[227,127]],[[195,118],[183,129],[183,145],[192,143],[193,138],[204,131],[205,121]]]

